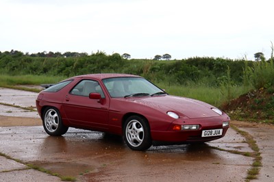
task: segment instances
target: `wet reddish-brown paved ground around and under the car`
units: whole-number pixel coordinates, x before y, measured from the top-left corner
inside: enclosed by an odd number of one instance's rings
[[[35,107],[36,96],[0,88],[0,103]],[[24,118],[21,122],[35,120],[35,125],[11,127],[7,122],[14,116]],[[61,181],[26,164],[76,181],[245,181],[253,162],[252,157],[229,152],[253,152],[231,128],[224,138],[206,144],[151,146],[138,152],[130,150],[121,137],[96,131],[70,128],[62,137],[51,137],[39,121],[36,112],[0,105],[0,126],[5,123],[0,127],[0,153],[4,155],[0,156],[0,181]],[[257,181],[274,181],[274,144],[267,137],[273,138],[273,129],[240,129],[253,133],[262,152]]]

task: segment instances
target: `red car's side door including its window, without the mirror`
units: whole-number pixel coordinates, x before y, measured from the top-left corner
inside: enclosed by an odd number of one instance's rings
[[[103,101],[90,99],[88,96],[92,92],[99,92]],[[66,94],[63,105],[66,118],[72,125],[99,131],[108,129],[109,100],[105,98],[99,82],[90,79],[79,81]]]

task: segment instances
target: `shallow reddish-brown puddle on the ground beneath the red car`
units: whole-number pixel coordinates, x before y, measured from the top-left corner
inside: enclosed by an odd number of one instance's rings
[[[151,146],[140,152],[129,149],[123,138],[100,132],[47,136],[38,148],[40,160],[34,164],[53,173],[74,177],[85,172],[98,172],[109,165],[142,167],[163,162],[176,165],[182,161],[216,159],[216,153],[208,144]]]

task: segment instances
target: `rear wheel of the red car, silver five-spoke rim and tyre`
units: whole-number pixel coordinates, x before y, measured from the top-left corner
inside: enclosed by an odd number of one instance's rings
[[[55,107],[47,107],[42,116],[42,124],[45,131],[52,136],[64,135],[69,127],[62,122],[60,112]]]

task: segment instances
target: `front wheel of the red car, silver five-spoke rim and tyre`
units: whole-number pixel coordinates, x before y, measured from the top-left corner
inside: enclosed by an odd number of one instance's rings
[[[123,127],[125,143],[134,151],[145,151],[152,144],[147,120],[140,116],[130,116]]]

